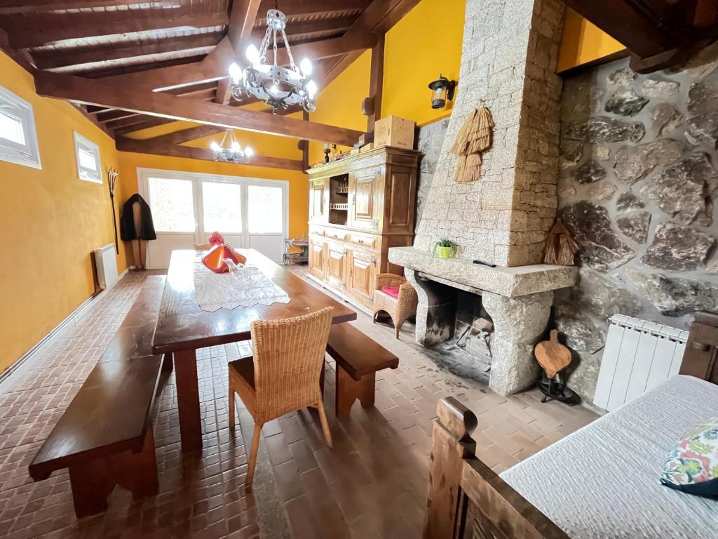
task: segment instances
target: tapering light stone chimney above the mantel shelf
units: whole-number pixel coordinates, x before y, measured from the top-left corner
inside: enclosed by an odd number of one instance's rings
[[[554,71],[564,4],[466,4],[457,99],[439,158],[426,165],[430,181],[420,185],[414,246],[430,250],[445,236],[460,244],[462,258],[500,266],[541,262],[556,216],[561,79]],[[483,156],[479,180],[454,183],[457,157],[450,149],[481,98],[495,121],[493,149]]]

